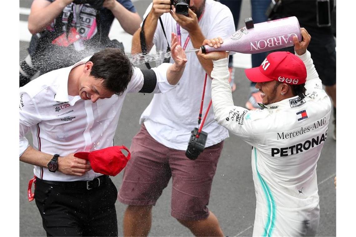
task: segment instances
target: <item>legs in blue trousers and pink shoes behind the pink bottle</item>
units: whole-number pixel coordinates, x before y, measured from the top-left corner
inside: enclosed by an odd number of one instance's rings
[[[220,0],[220,2],[230,8],[232,16],[234,17],[235,28],[239,25],[240,9],[242,0]],[[251,17],[253,23],[260,23],[267,21],[266,10],[271,0],[250,0],[251,1]],[[252,67],[259,66],[266,58],[267,53],[252,54],[251,61]],[[229,56],[229,71],[230,71],[230,86],[232,91],[235,91],[236,84],[234,82],[234,67],[232,66],[232,55]],[[246,102],[247,109],[262,109],[257,103],[262,103],[261,92],[255,88],[256,83],[251,82],[250,97]]]

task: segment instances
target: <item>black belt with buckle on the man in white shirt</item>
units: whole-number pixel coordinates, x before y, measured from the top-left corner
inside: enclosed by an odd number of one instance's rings
[[[62,186],[64,188],[84,189],[84,190],[98,188],[100,186],[107,184],[109,181],[110,178],[108,175],[102,175],[90,181],[69,181],[69,182],[48,181],[36,177],[36,183],[46,183],[51,185]]]

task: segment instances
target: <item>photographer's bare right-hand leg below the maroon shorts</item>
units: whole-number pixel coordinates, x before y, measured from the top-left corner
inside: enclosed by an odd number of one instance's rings
[[[205,220],[178,221],[185,227],[189,228],[189,230],[192,231],[195,236],[224,236],[218,219],[211,211],[209,211],[209,216]]]

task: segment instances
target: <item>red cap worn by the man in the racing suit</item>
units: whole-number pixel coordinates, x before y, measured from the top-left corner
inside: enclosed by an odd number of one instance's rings
[[[245,74],[252,82],[275,80],[289,85],[300,85],[307,80],[307,69],[302,59],[290,52],[270,53],[260,66],[245,69]]]

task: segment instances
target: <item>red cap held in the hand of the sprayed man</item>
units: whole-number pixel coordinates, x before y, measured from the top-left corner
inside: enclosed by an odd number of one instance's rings
[[[128,152],[127,157],[121,149]],[[77,152],[74,156],[90,161],[91,168],[96,173],[115,176],[125,168],[131,153],[125,146],[110,146],[91,152]]]

